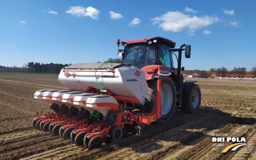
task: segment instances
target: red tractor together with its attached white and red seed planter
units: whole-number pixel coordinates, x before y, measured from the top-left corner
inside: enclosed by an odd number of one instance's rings
[[[161,37],[117,41],[122,63],[84,63],[64,67],[59,81],[68,90],[39,90],[34,98],[51,104],[51,114],[38,115],[33,126],[89,149],[138,132],[152,122],[168,121],[176,107],[197,112],[201,104],[196,81],[183,82],[182,51]],[[185,49],[183,49],[185,47]],[[178,57],[173,52],[178,52]],[[178,61],[174,68],[172,54]]]

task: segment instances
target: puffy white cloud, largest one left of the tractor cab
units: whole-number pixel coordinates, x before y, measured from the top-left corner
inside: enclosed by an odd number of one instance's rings
[[[71,13],[72,15],[76,16],[90,16],[92,19],[98,19],[98,14],[99,10],[93,8],[93,7],[80,7],[80,6],[75,6],[75,7],[70,7],[66,13]]]

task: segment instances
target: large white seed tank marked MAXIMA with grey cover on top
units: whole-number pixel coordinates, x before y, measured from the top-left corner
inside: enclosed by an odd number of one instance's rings
[[[148,94],[145,73],[130,64],[121,63],[81,63],[64,67],[59,74],[59,81],[69,90],[89,91],[105,86],[114,95],[135,97],[139,103]],[[100,66],[100,67],[99,67]],[[99,67],[99,68],[98,68]],[[95,70],[98,68],[95,77]],[[100,88],[98,88],[100,90]]]

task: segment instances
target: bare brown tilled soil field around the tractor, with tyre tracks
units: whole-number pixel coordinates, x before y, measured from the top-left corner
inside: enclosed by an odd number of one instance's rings
[[[195,114],[175,110],[163,124],[152,124],[140,137],[128,135],[118,142],[89,150],[32,127],[36,112],[51,111],[49,104],[36,100],[41,89],[66,89],[58,76],[0,76],[0,160],[3,159],[256,159],[256,84],[197,82],[201,108]],[[244,137],[246,145],[221,153],[239,142],[213,147],[213,134]],[[225,137],[227,138],[227,137]],[[221,143],[221,142],[219,142]],[[218,150],[213,150],[218,148]]]

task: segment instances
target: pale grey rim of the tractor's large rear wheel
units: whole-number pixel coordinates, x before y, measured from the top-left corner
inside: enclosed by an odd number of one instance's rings
[[[167,114],[171,109],[172,104],[172,92],[169,85],[163,85],[161,87],[161,109],[162,114]]]

